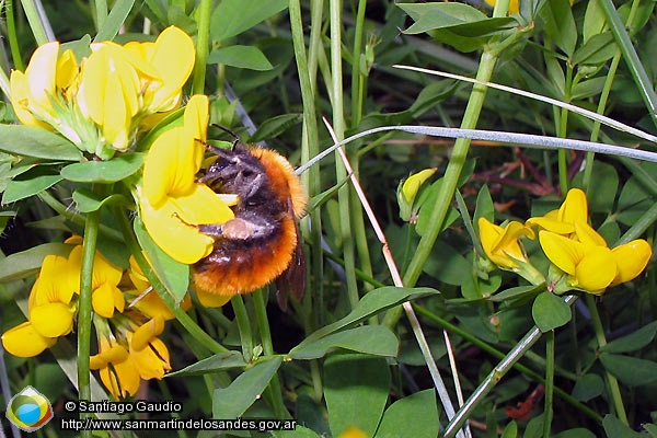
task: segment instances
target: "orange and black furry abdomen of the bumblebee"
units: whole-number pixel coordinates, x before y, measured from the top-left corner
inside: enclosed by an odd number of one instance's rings
[[[194,286],[222,296],[260,289],[287,269],[296,245],[297,231],[291,217],[284,217],[280,232],[266,239],[220,239],[215,242],[212,253],[194,265]]]

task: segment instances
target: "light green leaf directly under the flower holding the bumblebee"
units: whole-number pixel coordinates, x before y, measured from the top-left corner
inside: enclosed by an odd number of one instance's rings
[[[160,250],[160,246],[153,242],[143,228],[139,217],[135,218],[132,228],[139,245],[146,252],[147,258],[160,281],[177,302],[182,301],[185,293],[187,293],[187,286],[189,286],[189,265],[174,261],[169,254]]]

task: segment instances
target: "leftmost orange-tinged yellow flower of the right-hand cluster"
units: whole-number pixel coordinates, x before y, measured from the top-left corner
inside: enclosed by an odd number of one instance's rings
[[[504,269],[515,269],[518,268],[518,263],[529,263],[518,239],[521,235],[534,239],[534,232],[530,228],[516,221],[499,227],[486,218],[480,218],[479,228],[482,246],[491,262]]]

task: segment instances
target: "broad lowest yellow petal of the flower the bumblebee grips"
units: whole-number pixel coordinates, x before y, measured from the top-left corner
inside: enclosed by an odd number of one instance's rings
[[[214,239],[184,223],[173,203],[165,203],[155,210],[142,199],[140,206],[146,230],[158,246],[175,261],[191,265],[212,251]]]

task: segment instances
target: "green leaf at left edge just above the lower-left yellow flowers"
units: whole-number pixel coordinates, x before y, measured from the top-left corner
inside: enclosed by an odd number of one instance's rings
[[[68,257],[72,249],[73,245],[53,242],[8,255],[0,260],[0,283],[31,277],[39,272],[46,255]]]

